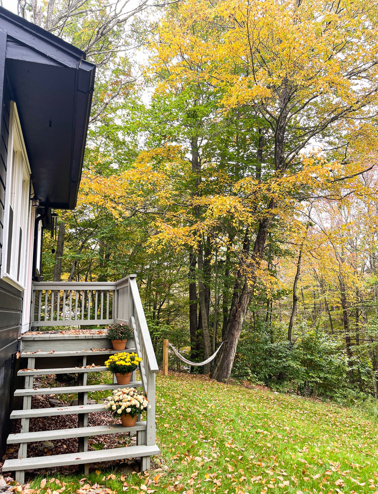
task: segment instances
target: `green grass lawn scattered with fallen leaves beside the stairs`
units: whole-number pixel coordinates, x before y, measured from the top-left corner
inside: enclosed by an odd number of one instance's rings
[[[170,373],[157,376],[156,411],[158,470],[58,475],[64,492],[378,494],[378,420],[355,409]]]

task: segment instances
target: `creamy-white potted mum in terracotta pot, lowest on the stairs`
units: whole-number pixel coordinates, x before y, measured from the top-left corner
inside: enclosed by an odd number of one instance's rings
[[[109,410],[114,417],[121,417],[124,427],[132,427],[136,423],[136,417],[144,410],[151,408],[145,395],[138,394],[135,388],[118,388],[113,391],[113,396],[105,400],[105,410]]]

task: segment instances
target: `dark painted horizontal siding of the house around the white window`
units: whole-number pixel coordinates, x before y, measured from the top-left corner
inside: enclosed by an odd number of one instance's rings
[[[0,266],[4,224],[4,197],[8,149],[10,90],[5,76],[0,127]],[[22,292],[0,280],[0,457],[9,429],[11,379],[17,338],[21,332]]]

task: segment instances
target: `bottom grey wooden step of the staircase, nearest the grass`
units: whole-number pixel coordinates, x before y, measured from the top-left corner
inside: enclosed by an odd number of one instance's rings
[[[114,448],[111,450],[85,451],[83,453],[66,453],[50,456],[38,456],[36,458],[22,458],[5,460],[2,466],[4,472],[28,470],[30,468],[50,468],[63,465],[80,465],[83,463],[95,463],[102,461],[135,458],[137,456],[151,456],[159,454],[157,446],[129,446],[127,448]]]

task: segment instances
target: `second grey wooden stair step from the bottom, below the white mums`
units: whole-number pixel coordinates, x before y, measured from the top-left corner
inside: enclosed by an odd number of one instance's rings
[[[84,436],[101,436],[103,434],[122,434],[131,431],[146,430],[147,422],[141,420],[133,427],[124,427],[122,424],[98,425],[93,427],[77,427],[74,429],[58,429],[53,431],[23,432],[9,434],[7,444],[34,443],[37,441],[54,441],[55,439],[69,439]]]

